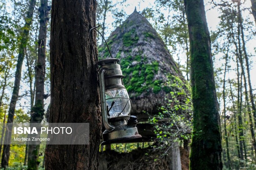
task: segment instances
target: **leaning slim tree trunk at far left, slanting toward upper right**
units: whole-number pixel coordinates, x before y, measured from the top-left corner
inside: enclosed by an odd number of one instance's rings
[[[28,35],[30,31],[30,25],[32,24],[33,11],[34,11],[35,4],[36,4],[36,0],[30,0],[29,9],[27,11],[27,17],[25,19],[25,25],[23,27],[23,32],[21,35],[22,39],[19,47],[19,55],[18,55],[18,61],[16,66],[15,80],[14,80],[14,86],[12,91],[12,99],[10,102],[10,107],[8,112],[7,123],[12,123],[14,118],[15,107],[18,100],[19,90],[20,90],[21,70],[22,70],[22,63],[24,59],[24,52],[27,46]],[[10,143],[11,141],[12,127],[10,126],[10,128],[11,130],[5,132],[5,137],[4,137],[5,143]],[[1,162],[2,168],[8,166],[9,157],[10,157],[10,145],[4,145],[2,162]]]

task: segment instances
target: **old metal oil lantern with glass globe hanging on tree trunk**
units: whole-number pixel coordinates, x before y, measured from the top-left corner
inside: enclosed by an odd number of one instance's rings
[[[106,130],[101,145],[129,142],[141,138],[137,117],[130,116],[131,100],[123,83],[117,58],[99,60],[102,121]]]

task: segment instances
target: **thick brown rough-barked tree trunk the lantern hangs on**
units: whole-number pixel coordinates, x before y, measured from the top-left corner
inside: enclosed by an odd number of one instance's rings
[[[98,169],[101,109],[95,0],[52,1],[50,123],[90,123],[90,145],[47,145],[45,169]],[[63,156],[64,155],[64,156]]]

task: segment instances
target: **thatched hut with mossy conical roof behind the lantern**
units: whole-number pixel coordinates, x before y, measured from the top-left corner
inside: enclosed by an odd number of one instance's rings
[[[120,59],[119,64],[125,76],[124,85],[132,100],[131,115],[138,117],[137,128],[143,138],[136,142],[152,141],[155,133],[154,126],[147,122],[150,115],[159,112],[159,107],[166,104],[166,98],[171,91],[188,91],[187,81],[159,34],[136,9],[122,25],[111,33],[107,43],[112,56]],[[98,53],[100,59],[110,57],[105,44],[98,48]],[[167,84],[174,81],[173,77],[183,82],[184,85],[178,88],[168,86]],[[180,95],[180,100],[182,98],[183,95]],[[188,115],[187,118],[189,118]],[[179,146],[177,147],[179,148]],[[150,150],[139,149],[126,154],[115,151],[103,152],[101,153],[101,168],[166,169],[171,167],[171,162],[177,162],[174,159],[166,162],[170,159],[165,157],[162,162],[157,163],[150,160],[150,157],[145,158],[146,152],[150,152]],[[159,153],[152,154],[154,156],[151,158],[160,156]],[[183,157],[182,169],[186,169],[188,167],[188,151],[186,149],[182,150],[181,157]],[[120,162],[120,160],[125,161]],[[128,166],[128,164],[133,166]],[[154,168],[150,168],[151,165]]]

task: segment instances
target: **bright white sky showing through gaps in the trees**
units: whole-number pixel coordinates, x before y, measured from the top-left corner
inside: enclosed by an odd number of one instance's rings
[[[118,2],[118,0],[113,0],[113,2],[114,3]],[[209,28],[209,31],[211,32],[211,31],[217,30],[217,25],[219,23],[219,18],[218,18],[219,11],[217,10],[217,8],[212,8],[212,6],[208,2],[209,1],[204,1],[204,5],[205,5],[208,28]],[[251,7],[250,0],[245,0],[245,5],[246,5],[246,7],[250,8]],[[123,9],[127,15],[130,15],[134,11],[135,7],[136,7],[137,11],[141,12],[146,7],[152,7],[152,6],[154,6],[154,0],[144,0],[144,1],[142,1],[142,0],[127,0],[123,4]],[[116,7],[121,8],[121,5],[117,5]],[[165,15],[166,16],[168,15],[167,11],[166,11]],[[249,14],[248,12],[243,13],[243,16],[249,16],[250,20],[254,21],[253,16],[251,14]],[[108,12],[107,16],[106,16],[106,24],[107,24],[108,33],[106,34],[105,38],[107,38],[110,35],[110,33],[112,31],[114,31],[114,29],[115,29],[111,25],[111,23],[113,21],[114,21],[114,19],[112,18],[111,13]],[[249,33],[245,33],[245,34],[249,34]],[[249,40],[246,44],[247,52],[249,54],[253,55],[253,57],[251,58],[251,61],[252,61],[252,63],[251,63],[251,82],[252,82],[253,89],[256,89],[256,76],[254,76],[254,73],[256,73],[256,60],[255,60],[255,50],[254,50],[254,48],[256,47],[255,44],[256,44],[256,39]],[[49,46],[49,44],[47,46]],[[181,64],[185,64],[185,53],[183,55],[184,55],[184,57],[180,58]],[[180,57],[181,55],[180,54],[173,55],[173,58],[175,59],[175,61],[178,60],[178,56]],[[224,61],[218,59],[221,57],[222,57],[221,54],[215,56],[215,58],[216,58],[216,60],[214,62],[215,68],[221,67],[222,64],[224,63]],[[22,68],[23,68],[23,70],[26,69],[25,64],[23,64]],[[229,77],[230,77],[230,79],[235,78],[236,77],[235,72],[230,72]],[[24,91],[29,90],[29,87],[23,82],[21,82],[21,85],[22,85],[22,88],[20,90],[20,94],[24,94]],[[49,93],[49,90],[46,91],[45,93]],[[255,92],[254,92],[254,94],[255,94]],[[26,102],[26,104],[25,104],[25,102]],[[26,99],[22,99],[19,103],[21,105],[29,105],[29,101],[27,101]],[[47,105],[50,103],[50,97],[45,101],[45,103],[46,103],[45,107],[47,107]],[[23,109],[26,112],[27,108],[25,107]]]

